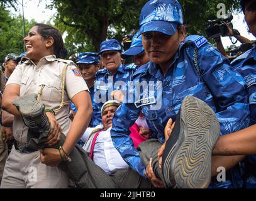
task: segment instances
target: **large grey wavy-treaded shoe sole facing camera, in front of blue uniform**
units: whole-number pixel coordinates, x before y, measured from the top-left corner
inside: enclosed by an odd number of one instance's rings
[[[211,107],[187,96],[166,143],[163,156],[165,185],[174,188],[207,188],[211,181],[211,153],[218,140],[220,123]],[[172,141],[172,136],[177,141]]]

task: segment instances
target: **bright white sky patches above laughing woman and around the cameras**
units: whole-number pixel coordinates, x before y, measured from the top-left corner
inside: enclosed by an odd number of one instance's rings
[[[21,0],[19,1],[18,13],[14,12],[14,9],[11,9],[11,13],[13,14],[22,14],[22,6]],[[23,0],[24,2],[24,13],[26,19],[35,19],[37,23],[47,22],[52,18],[54,14],[57,13],[55,9],[50,10],[46,8],[47,4],[50,4],[50,0],[42,0],[40,4],[38,4],[38,0]],[[52,22],[52,21],[51,21]],[[255,40],[255,37],[252,34],[249,34],[247,31],[247,24],[244,21],[243,13],[233,14],[233,28],[237,29],[242,36],[250,40]],[[221,37],[223,42],[223,46],[226,48],[227,46],[232,45],[229,37]],[[233,39],[235,41],[235,38]],[[236,45],[240,45],[238,42]]]

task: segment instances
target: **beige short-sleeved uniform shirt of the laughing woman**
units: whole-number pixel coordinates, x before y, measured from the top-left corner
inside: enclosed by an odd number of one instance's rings
[[[6,85],[20,85],[19,96],[38,94],[41,86],[45,85],[41,95],[45,109],[57,109],[60,106],[62,95],[62,69],[66,63],[70,63],[70,65],[67,67],[65,77],[64,101],[69,101],[75,94],[89,89],[74,63],[56,58],[55,55],[43,57],[38,65],[35,65],[31,60],[21,62],[9,77]],[[62,128],[62,133],[65,135],[69,132],[72,123],[69,119],[69,111],[70,106],[64,106],[55,114],[58,124]],[[27,133],[28,127],[25,126],[21,117],[14,117],[13,136],[16,141],[26,143]]]

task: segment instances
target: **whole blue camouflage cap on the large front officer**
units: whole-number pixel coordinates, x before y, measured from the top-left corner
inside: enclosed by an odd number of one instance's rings
[[[176,0],[151,0],[140,13],[139,35],[147,31],[158,31],[174,35],[177,25],[183,24],[181,4]]]

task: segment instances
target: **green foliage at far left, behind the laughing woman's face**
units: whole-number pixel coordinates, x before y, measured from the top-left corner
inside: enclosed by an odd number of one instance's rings
[[[25,33],[35,24],[35,21],[25,20]],[[0,7],[0,63],[8,53],[24,52],[23,19],[21,16],[11,16],[9,11]]]

